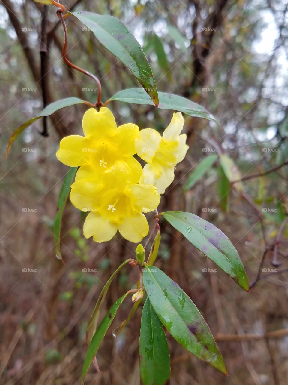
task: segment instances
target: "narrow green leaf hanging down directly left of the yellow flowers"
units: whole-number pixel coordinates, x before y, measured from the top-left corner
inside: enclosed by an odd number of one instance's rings
[[[58,259],[63,259],[60,251],[60,232],[61,232],[62,216],[67,203],[70,187],[76,175],[77,169],[78,167],[70,167],[69,171],[65,176],[64,182],[61,186],[61,190],[58,198],[57,214],[55,216],[55,222],[54,222],[55,253]]]

